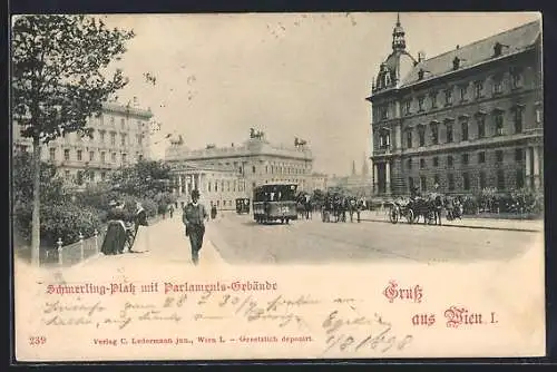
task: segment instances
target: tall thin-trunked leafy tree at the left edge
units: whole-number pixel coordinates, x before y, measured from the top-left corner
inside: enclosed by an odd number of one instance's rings
[[[105,71],[126,51],[133,31],[108,29],[84,14],[19,16],[12,27],[12,115],[21,135],[32,138],[32,263],[40,246],[41,146],[63,134],[90,136],[87,119],[121,89],[121,70]]]

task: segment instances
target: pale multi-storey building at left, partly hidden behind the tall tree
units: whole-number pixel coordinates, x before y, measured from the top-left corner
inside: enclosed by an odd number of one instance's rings
[[[108,172],[121,165],[149,158],[152,117],[150,110],[107,102],[102,112],[87,124],[92,128],[92,138],[66,134],[43,146],[42,159],[57,165],[63,177],[78,186],[105,179]],[[13,149],[32,151],[32,140],[21,137],[20,130],[14,123]]]

